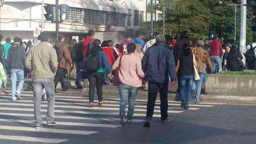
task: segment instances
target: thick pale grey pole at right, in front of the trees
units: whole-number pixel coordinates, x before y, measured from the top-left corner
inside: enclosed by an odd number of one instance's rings
[[[246,5],[247,4],[247,0],[242,0],[241,1],[242,5]],[[239,43],[239,50],[240,53],[243,53],[243,50],[245,50],[246,48],[246,14],[247,14],[247,6],[241,6],[241,17],[240,17],[240,43]],[[243,63],[245,64],[245,56],[243,56]]]

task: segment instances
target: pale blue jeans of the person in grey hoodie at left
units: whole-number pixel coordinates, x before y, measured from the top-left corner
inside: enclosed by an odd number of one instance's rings
[[[20,94],[23,84],[24,84],[24,71],[21,69],[11,69],[11,93],[12,93],[12,99],[16,100],[15,94]],[[17,86],[18,82],[18,86]]]

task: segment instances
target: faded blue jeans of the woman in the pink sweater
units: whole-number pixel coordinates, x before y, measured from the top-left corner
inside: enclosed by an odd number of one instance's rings
[[[138,88],[119,83],[119,95],[120,95],[120,116],[125,115],[126,104],[129,101],[129,109],[127,113],[127,119],[132,120],[134,112],[134,104],[137,96]]]

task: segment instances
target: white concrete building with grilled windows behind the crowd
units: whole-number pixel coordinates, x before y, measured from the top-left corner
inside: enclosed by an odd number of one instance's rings
[[[59,0],[69,5],[68,20],[60,23],[60,33],[69,41],[72,36],[97,31],[101,41],[123,40],[128,31],[139,28],[146,20],[146,0]],[[55,5],[55,0],[44,0],[44,5]],[[33,31],[42,28],[42,0],[5,0],[0,8],[0,28],[4,38],[19,36],[25,41],[33,39]],[[55,23],[45,21],[43,30],[55,41]]]

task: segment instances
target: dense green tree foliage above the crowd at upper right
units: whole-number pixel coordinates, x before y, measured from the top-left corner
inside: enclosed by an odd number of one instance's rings
[[[234,4],[231,0],[223,0],[226,4]],[[235,7],[220,5],[219,0],[160,0],[160,5],[167,8],[165,13],[165,34],[179,35],[187,30],[192,39],[208,38],[209,30],[215,28],[224,43],[234,43]],[[250,43],[256,31],[255,9],[247,8],[247,42]],[[239,41],[240,7],[237,6],[236,41]],[[162,33],[163,22],[154,23],[154,30]],[[150,26],[150,22],[147,22]],[[141,27],[145,27],[143,24]],[[149,28],[149,29],[148,29]],[[150,33],[150,27],[146,27]]]

